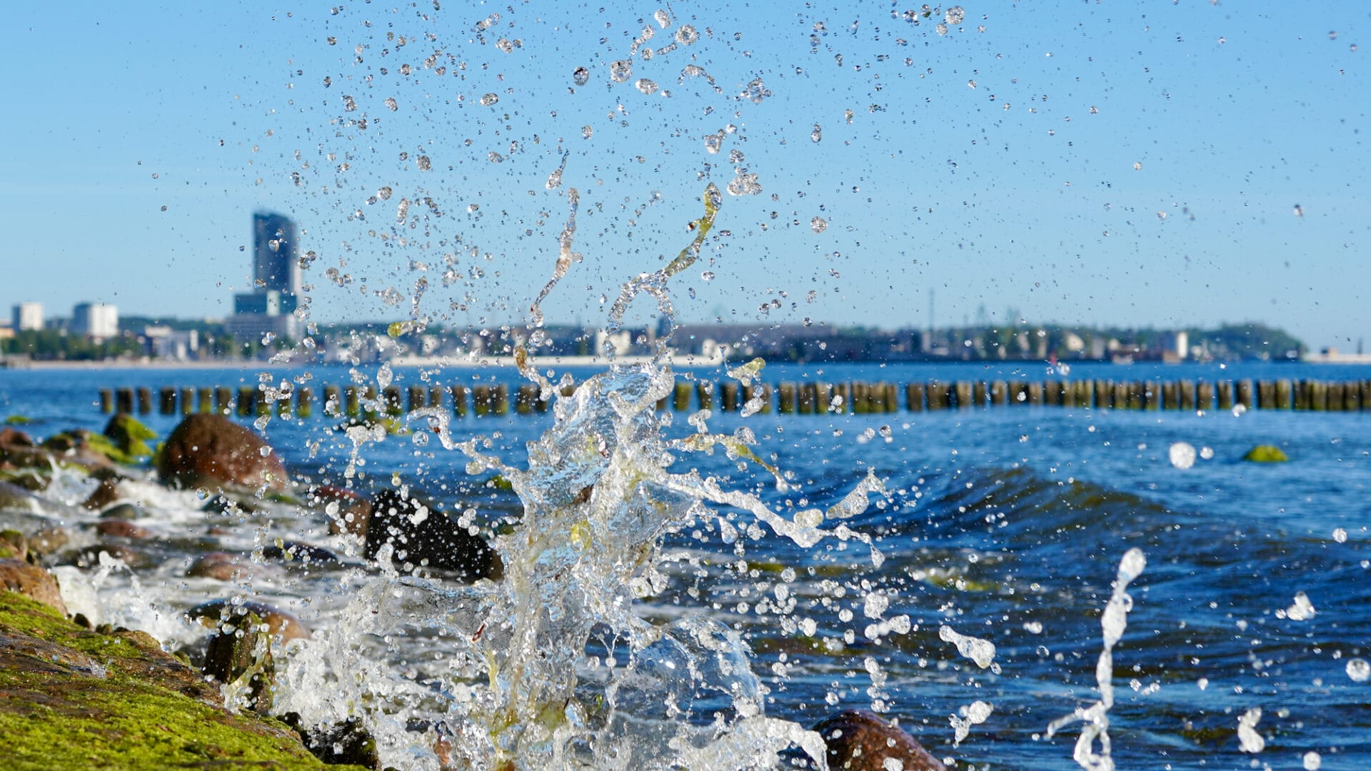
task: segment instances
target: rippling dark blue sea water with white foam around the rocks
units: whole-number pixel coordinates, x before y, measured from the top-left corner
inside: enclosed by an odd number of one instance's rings
[[[1041,377],[1042,366],[1020,372]],[[1072,375],[1149,373],[1078,368]],[[1157,373],[1364,377],[1355,368]],[[273,372],[277,380],[306,375],[315,387],[347,380],[339,368]],[[581,379],[590,372],[573,375]],[[903,383],[1015,375],[972,365],[788,365],[768,368],[765,379]],[[699,376],[723,377],[705,370]],[[417,370],[399,372],[398,383],[417,377]],[[515,383],[518,376],[511,368],[432,373],[435,384],[470,384],[473,377]],[[258,373],[0,372],[0,414],[34,418],[26,428],[38,436],[71,427],[99,429],[104,423],[93,405],[99,387],[240,380],[255,384]],[[147,416],[160,435],[174,420]],[[551,413],[465,418],[452,421],[452,432],[458,440],[489,436],[487,451],[522,468],[525,443],[551,421]],[[771,475],[754,466],[740,471],[723,451],[681,455],[673,471],[695,468],[787,510],[827,508],[871,469],[886,480],[891,497],[873,498],[877,505],[846,524],[871,535],[880,557],[851,539],[828,538],[801,549],[754,527],[751,516],[729,512],[736,539],[721,538],[723,525],[703,520],[665,538],[661,569],[668,582],[642,601],[642,615],[665,621],[705,609],[713,620],[740,630],[753,650],[751,668],[769,689],[769,716],[812,724],[845,707],[875,705],[898,716],[935,755],[958,764],[1073,768],[1079,723],[1050,739],[1046,727],[1100,698],[1101,613],[1120,558],[1137,547],[1148,564],[1128,587],[1132,610],[1113,652],[1116,694],[1109,716],[1120,767],[1248,767],[1252,756],[1239,752],[1238,719],[1260,708],[1256,728],[1265,749],[1256,757],[1263,763],[1296,768],[1315,752],[1323,768],[1359,768],[1371,737],[1371,683],[1352,679],[1348,664],[1371,654],[1368,421],[1371,414],[1363,413],[1028,406],[882,416],[716,414],[709,420],[714,432],[750,428],[758,454],[794,475],[791,488],[777,491]],[[266,436],[292,472],[340,483],[351,444],[330,428],[322,417],[273,418]],[[668,428],[672,436],[694,431],[686,413],[673,416]],[[429,440],[415,442],[420,436]],[[1200,450],[1191,468],[1169,461],[1176,442]],[[1282,446],[1290,462],[1243,462],[1242,454],[1257,443]],[[483,486],[487,475],[469,476],[466,458],[443,450],[426,432],[367,444],[362,457],[362,488],[388,486],[398,475],[457,510],[474,508],[485,527],[498,528],[520,514],[511,493]],[[45,494],[55,502],[41,513],[7,510],[0,517],[27,530],[47,520],[80,530],[95,517],[60,503],[80,502],[90,486],[59,477]],[[147,501],[145,523],[159,538],[133,545],[147,556],[145,567],[108,576],[75,568],[63,573],[67,584],[80,583],[80,576],[86,584],[103,580],[90,587],[88,602],[104,620],[148,628],[173,645],[195,645],[203,631],[186,624],[181,610],[251,591],[299,615],[317,630],[321,650],[366,652],[348,656],[365,664],[363,678],[373,686],[389,683],[376,693],[406,705],[392,711],[388,735],[403,735],[406,717],[444,715],[452,694],[435,685],[450,646],[441,626],[407,624],[403,612],[373,620],[351,615],[356,593],[376,586],[376,569],[365,567],[355,546],[329,536],[322,516],[291,506],[269,506],[250,517],[211,516],[197,510],[200,501],[192,493],[152,487]],[[211,524],[226,525],[228,532],[208,534]],[[265,565],[240,586],[184,578],[199,553],[250,554],[274,538],[348,553],[350,567],[300,573]],[[80,531],[77,539],[95,536]],[[415,591],[395,598],[395,608],[422,602],[426,590]],[[1287,612],[1297,593],[1308,597],[1312,616]],[[941,634],[943,627],[991,642],[993,665],[982,668],[958,653]],[[603,676],[603,661],[618,643],[607,634],[592,639],[581,664],[583,683]],[[949,719],[973,701],[988,702],[993,712],[953,746]],[[712,709],[721,707],[699,700],[690,719],[709,723]],[[389,752],[399,757],[407,750]]]

